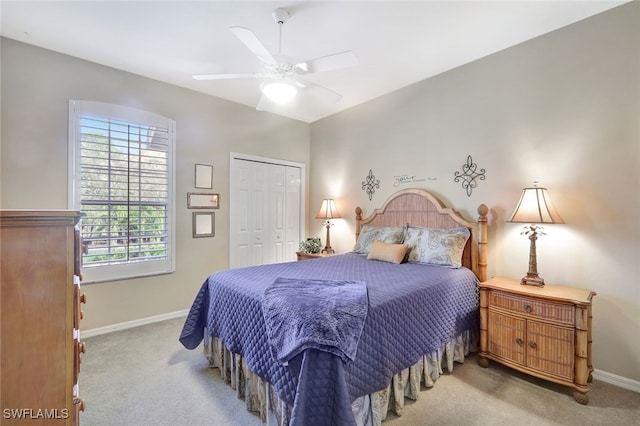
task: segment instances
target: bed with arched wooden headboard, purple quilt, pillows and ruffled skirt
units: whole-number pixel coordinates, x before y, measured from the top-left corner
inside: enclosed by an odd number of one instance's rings
[[[475,350],[487,213],[423,189],[358,207],[351,253],[211,274],[179,340],[265,424],[379,425]]]

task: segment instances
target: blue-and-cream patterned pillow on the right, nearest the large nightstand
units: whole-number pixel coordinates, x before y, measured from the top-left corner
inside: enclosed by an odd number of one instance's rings
[[[409,227],[405,244],[410,248],[408,262],[459,268],[462,252],[471,233],[467,228],[435,229]]]

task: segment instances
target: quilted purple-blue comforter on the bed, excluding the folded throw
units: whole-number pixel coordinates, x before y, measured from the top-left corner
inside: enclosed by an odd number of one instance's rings
[[[279,278],[366,283],[369,307],[353,361],[315,349],[286,366],[275,359],[262,298]],[[249,369],[293,407],[292,425],[349,425],[354,424],[353,400],[386,388],[393,374],[477,327],[477,278],[470,270],[344,254],[210,275],[193,302],[180,342],[194,349],[206,332],[241,354]]]

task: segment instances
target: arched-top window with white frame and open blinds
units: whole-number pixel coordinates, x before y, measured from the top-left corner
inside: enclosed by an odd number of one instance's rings
[[[82,212],[86,282],[174,270],[173,120],[69,102],[70,207]]]

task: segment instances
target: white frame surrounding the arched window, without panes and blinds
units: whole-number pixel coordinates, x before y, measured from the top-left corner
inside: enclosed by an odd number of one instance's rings
[[[94,101],[69,101],[69,166],[68,206],[81,211],[81,136],[80,118],[91,114],[131,123],[158,126],[168,131],[168,186],[167,186],[167,257],[160,260],[144,260],[114,265],[91,266],[82,270],[84,283],[126,280],[132,278],[169,274],[175,272],[176,206],[175,206],[175,121],[161,115],[127,106]],[[80,222],[82,225],[82,221]]]

